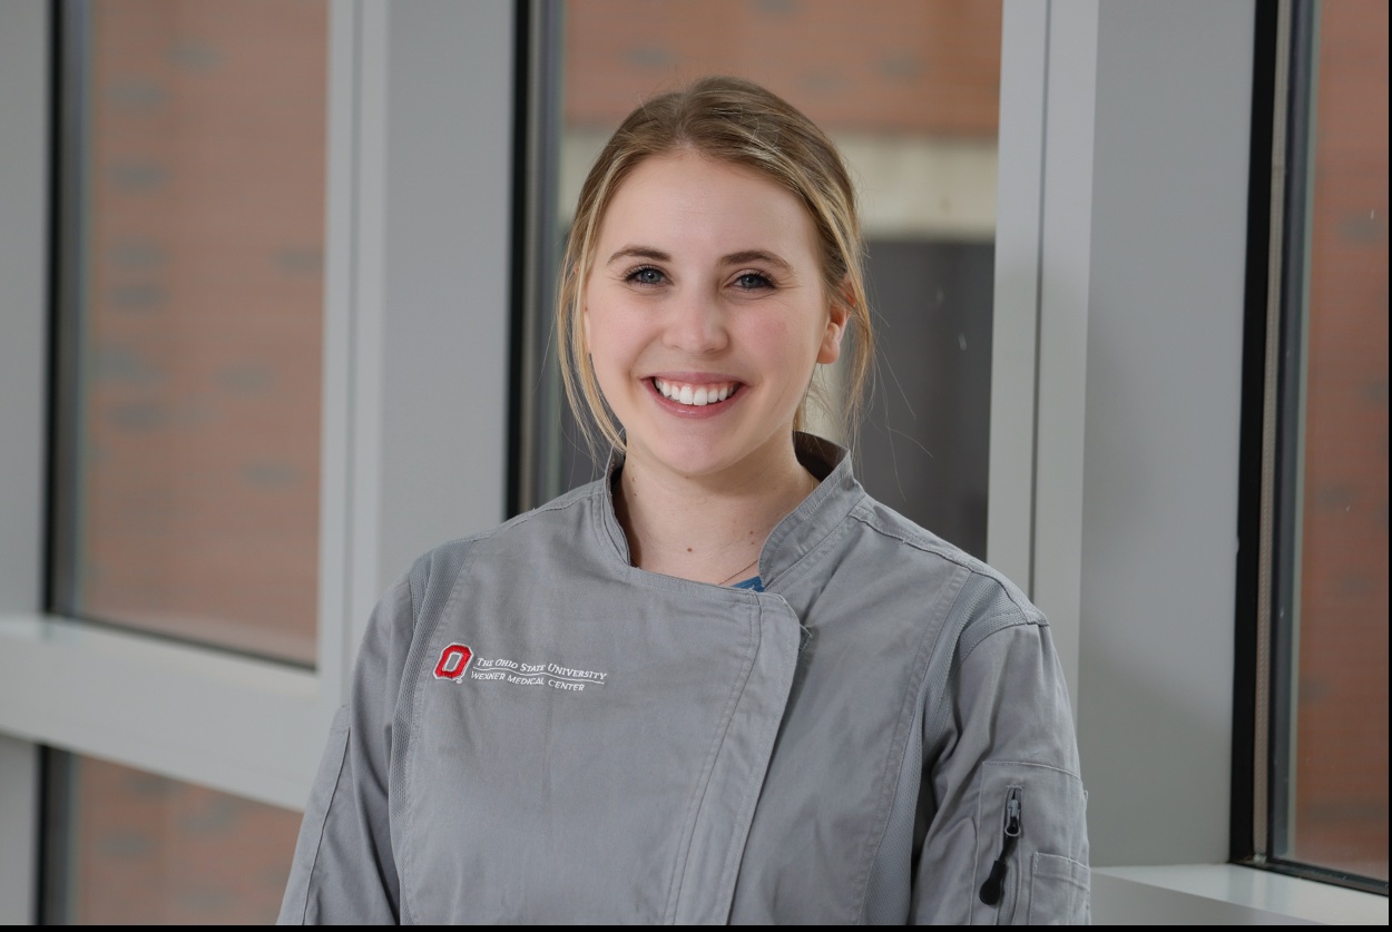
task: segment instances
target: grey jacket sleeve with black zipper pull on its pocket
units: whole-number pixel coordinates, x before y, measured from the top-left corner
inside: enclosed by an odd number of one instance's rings
[[[1090,922],[1086,794],[1048,625],[1019,606],[960,634],[924,719],[923,924]]]

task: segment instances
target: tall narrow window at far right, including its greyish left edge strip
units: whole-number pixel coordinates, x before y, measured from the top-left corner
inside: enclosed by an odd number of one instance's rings
[[[1268,374],[1271,769],[1256,818],[1270,829],[1257,853],[1385,893],[1388,11],[1371,0],[1290,11],[1267,334],[1279,360]]]

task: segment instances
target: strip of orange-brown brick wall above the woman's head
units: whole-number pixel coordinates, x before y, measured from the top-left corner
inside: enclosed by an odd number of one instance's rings
[[[612,128],[703,74],[767,86],[832,132],[995,139],[1001,4],[583,0],[567,6],[565,122]]]

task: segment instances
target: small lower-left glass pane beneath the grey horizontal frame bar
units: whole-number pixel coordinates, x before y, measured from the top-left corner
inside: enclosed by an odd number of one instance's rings
[[[299,812],[95,758],[52,768],[47,924],[271,924]]]

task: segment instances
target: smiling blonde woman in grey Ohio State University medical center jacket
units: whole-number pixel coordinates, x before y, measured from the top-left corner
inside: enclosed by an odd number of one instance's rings
[[[285,922],[1086,921],[1048,627],[798,433],[871,335],[845,167],[711,78],[580,195],[558,334],[604,480],[383,598]]]

